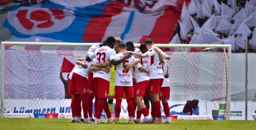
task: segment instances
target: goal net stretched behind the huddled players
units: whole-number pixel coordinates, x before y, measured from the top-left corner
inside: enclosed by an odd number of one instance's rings
[[[30,117],[35,113],[59,113],[59,118],[71,118],[71,96],[67,95],[67,75],[78,58],[86,57],[88,48],[92,45],[2,42],[1,116]],[[191,109],[187,106],[193,106],[190,103],[194,99],[199,100],[199,111],[193,112],[193,115],[216,115],[216,112],[218,115],[226,115],[226,112],[229,112],[229,45],[156,46],[173,50],[166,52],[171,57],[168,100],[170,115],[183,115]],[[208,47],[210,49],[207,49]],[[197,51],[192,51],[195,48]],[[127,107],[127,104],[123,103],[123,108]],[[186,111],[187,108],[189,110]],[[125,110],[122,110],[121,116],[127,114]]]

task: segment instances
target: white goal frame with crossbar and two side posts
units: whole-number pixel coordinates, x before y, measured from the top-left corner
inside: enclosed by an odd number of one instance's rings
[[[90,47],[96,43],[74,43],[74,42],[1,42],[1,117],[4,117],[5,108],[5,46],[86,46]],[[226,119],[230,119],[230,65],[231,65],[231,45],[230,44],[154,44],[165,48],[228,48],[226,55]],[[139,44],[135,44],[139,46]],[[84,48],[83,48],[84,49]],[[88,51],[88,50],[86,50]],[[222,61],[221,61],[222,62]],[[170,69],[170,67],[169,67]],[[218,77],[216,77],[218,79]],[[172,83],[171,83],[172,84]]]

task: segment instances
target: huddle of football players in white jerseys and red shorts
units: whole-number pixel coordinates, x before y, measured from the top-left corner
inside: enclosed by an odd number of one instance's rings
[[[69,94],[73,95],[72,123],[104,123],[100,120],[104,110],[108,118],[106,123],[119,124],[123,98],[127,100],[128,123],[171,123],[167,101],[170,98],[168,60],[170,57],[156,48],[150,38],[139,48],[135,48],[133,42],[123,43],[121,38],[113,36],[102,44],[91,46],[86,58],[79,58],[69,75]],[[111,115],[114,98],[115,119]],[[161,100],[165,121],[162,120]]]

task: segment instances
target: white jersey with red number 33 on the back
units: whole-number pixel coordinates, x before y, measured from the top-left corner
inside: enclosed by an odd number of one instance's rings
[[[90,59],[96,60],[96,64],[98,63],[104,63],[106,61],[111,61],[116,58],[116,52],[108,47],[108,46],[102,46],[100,48],[97,48],[94,53],[89,55]],[[108,67],[110,69],[110,67]],[[94,77],[100,77],[102,79],[110,81],[110,73],[106,73],[104,71],[96,71],[94,72]]]

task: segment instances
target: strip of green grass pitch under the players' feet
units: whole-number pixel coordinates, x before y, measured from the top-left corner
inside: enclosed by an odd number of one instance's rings
[[[106,121],[106,120],[103,120]],[[256,121],[172,120],[172,124],[86,124],[71,123],[71,119],[18,119],[0,118],[0,129],[79,129],[79,130],[207,130],[207,129],[256,129]]]

